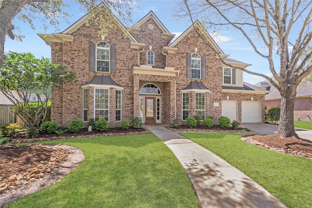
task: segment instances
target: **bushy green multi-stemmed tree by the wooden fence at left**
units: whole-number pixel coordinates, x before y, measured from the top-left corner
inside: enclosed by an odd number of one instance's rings
[[[0,90],[16,106],[16,113],[27,127],[39,128],[47,115],[48,100],[52,87],[60,87],[63,82],[74,79],[72,72],[65,72],[64,67],[51,63],[49,58],[35,58],[30,53],[9,52],[4,55],[0,70]],[[14,95],[19,93],[19,97]],[[38,105],[31,105],[29,97],[35,94]],[[46,99],[41,100],[40,95]],[[33,108],[36,113],[33,113]]]

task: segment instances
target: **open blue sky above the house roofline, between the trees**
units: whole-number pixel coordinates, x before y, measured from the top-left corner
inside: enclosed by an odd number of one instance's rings
[[[187,19],[176,19],[174,17],[173,9],[175,7],[175,0],[140,0],[137,2],[135,11],[132,12],[135,22],[142,19],[150,11],[153,11],[156,17],[162,22],[162,24],[169,30],[170,33],[176,34],[177,38],[182,34],[189,26],[191,22]],[[72,17],[69,19],[71,24],[80,19],[85,14],[81,13],[75,6],[69,11]],[[6,37],[4,44],[4,52],[8,51],[18,53],[32,53],[35,57],[49,57],[51,58],[51,48],[46,45],[45,42],[39,38],[37,33],[51,34],[64,31],[71,24],[67,24],[63,21],[59,25],[59,31],[54,26],[48,27],[47,31],[41,28],[42,23],[39,20],[35,20],[36,30],[30,28],[28,23],[24,23],[18,20],[14,21],[15,25],[20,28],[20,33],[25,36],[21,41],[17,39],[12,40]],[[125,25],[133,26],[133,25]],[[209,28],[208,28],[209,32]],[[229,58],[242,61],[244,63],[252,64],[247,67],[248,70],[272,76],[269,70],[268,61],[260,57],[254,52],[252,46],[247,42],[246,38],[240,35],[237,31],[227,30],[219,33],[217,38],[214,38],[215,42],[224,52],[224,54],[230,55]],[[244,81],[250,84],[255,84],[260,81],[264,81],[263,77],[250,75],[244,72]]]

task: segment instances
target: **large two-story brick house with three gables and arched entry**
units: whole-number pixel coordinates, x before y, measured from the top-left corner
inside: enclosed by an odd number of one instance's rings
[[[103,4],[101,5],[103,6]],[[264,121],[268,91],[243,82],[243,72],[223,65],[216,52],[234,66],[196,21],[213,48],[205,46],[193,26],[172,42],[174,34],[151,11],[125,28],[121,23],[107,36],[84,16],[62,33],[38,34],[51,46],[52,61],[77,78],[52,93],[52,121],[68,125],[98,117],[110,127],[141,117],[143,123],[186,123],[221,115],[241,122]],[[128,30],[127,30],[128,29]],[[126,33],[126,36],[124,35]]]

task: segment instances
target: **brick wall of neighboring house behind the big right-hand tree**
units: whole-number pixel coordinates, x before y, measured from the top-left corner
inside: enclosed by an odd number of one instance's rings
[[[266,100],[265,105],[268,108],[281,107],[281,100]],[[299,97],[294,102],[293,119],[301,121],[310,121],[309,117],[312,118],[312,97]]]

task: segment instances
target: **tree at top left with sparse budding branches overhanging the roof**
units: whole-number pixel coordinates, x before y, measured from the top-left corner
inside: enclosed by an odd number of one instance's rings
[[[101,2],[104,2],[108,9],[95,9]],[[44,29],[47,28],[47,22],[58,27],[59,21],[67,21],[70,16],[64,9],[72,7],[75,3],[79,3],[80,10],[87,12],[92,20],[98,22],[100,35],[106,35],[117,25],[117,20],[111,18],[114,15],[124,22],[131,21],[131,10],[136,5],[133,0],[0,0],[0,67],[6,35],[11,39],[23,37],[14,33],[17,27],[14,25],[15,18],[28,22],[33,29],[34,19],[40,19]]]

